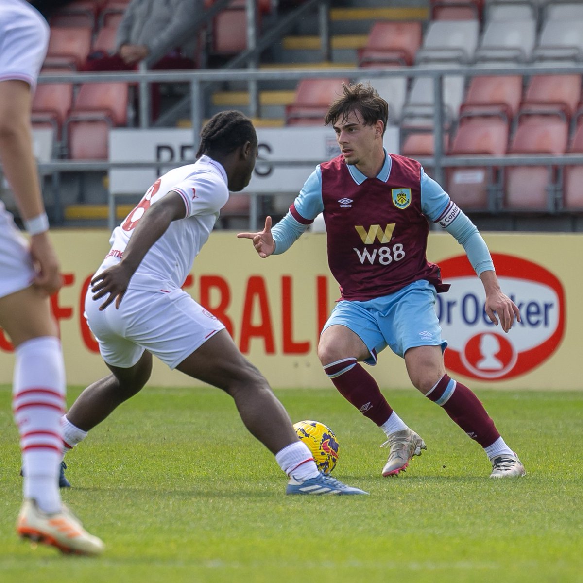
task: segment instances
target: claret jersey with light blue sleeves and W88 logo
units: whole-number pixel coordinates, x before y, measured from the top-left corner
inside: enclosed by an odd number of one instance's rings
[[[343,157],[320,164],[289,213],[273,227],[275,253],[287,250],[323,213],[328,262],[347,300],[370,300],[420,279],[438,291],[439,268],[426,259],[427,219],[463,245],[477,275],[493,270],[490,253],[473,223],[415,160],[385,152],[374,178]]]

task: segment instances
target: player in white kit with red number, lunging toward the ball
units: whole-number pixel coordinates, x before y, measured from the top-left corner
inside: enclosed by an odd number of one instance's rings
[[[87,290],[87,322],[111,374],[87,387],[63,417],[71,448],[146,384],[152,354],[231,395],[247,429],[289,476],[287,494],[366,494],[320,472],[268,382],[224,325],[181,289],[229,191],[251,180],[257,134],[238,111],[201,131],[194,164],[170,170],[117,227]]]

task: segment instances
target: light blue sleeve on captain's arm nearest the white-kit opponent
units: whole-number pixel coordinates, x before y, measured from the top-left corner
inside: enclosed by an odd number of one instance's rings
[[[300,194],[293,202],[293,212],[290,210],[278,224],[273,227],[271,234],[275,241],[273,255],[280,255],[287,251],[301,234],[314,222],[315,217],[324,210],[322,202],[322,173],[320,167],[310,174],[304,182]]]

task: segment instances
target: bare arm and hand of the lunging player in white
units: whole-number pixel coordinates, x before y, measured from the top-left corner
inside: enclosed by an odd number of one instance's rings
[[[121,261],[91,280],[94,300],[99,300],[108,294],[107,299],[100,305],[100,310],[105,310],[114,300],[115,307],[120,307],[121,300],[128,289],[129,280],[147,251],[166,233],[171,222],[185,218],[185,210],[184,199],[175,191],[168,192],[146,210],[129,238]]]

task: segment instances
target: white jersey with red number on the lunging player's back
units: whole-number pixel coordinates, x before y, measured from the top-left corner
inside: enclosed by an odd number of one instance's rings
[[[182,286],[196,255],[215,226],[220,209],[229,199],[227,174],[221,164],[208,156],[202,156],[194,164],[170,170],[154,182],[121,226],[114,229],[110,238],[111,250],[97,273],[121,260],[143,214],[170,191],[182,196],[184,219],[170,223],[166,233],[146,253],[128,287],[171,291]]]

